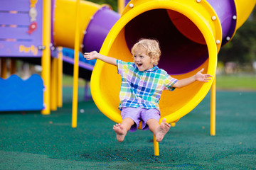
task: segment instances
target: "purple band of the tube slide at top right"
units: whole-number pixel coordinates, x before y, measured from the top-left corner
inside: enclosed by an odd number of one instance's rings
[[[236,16],[235,2],[233,0],[207,0],[210,6],[213,7],[220,19],[220,24],[223,32],[223,42],[225,45],[228,40],[227,37],[232,38],[235,32],[236,20],[233,16]]]

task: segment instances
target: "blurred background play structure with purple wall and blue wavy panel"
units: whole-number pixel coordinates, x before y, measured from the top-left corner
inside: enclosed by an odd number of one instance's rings
[[[75,7],[72,0],[1,1],[0,111],[39,110],[49,114],[62,106],[62,73],[73,74],[75,63],[71,50],[75,42]],[[108,5],[81,1],[79,15],[79,50],[100,51],[119,14]],[[14,75],[16,60],[41,64],[41,78],[32,75],[22,80]],[[80,53],[79,76],[90,80],[94,64]],[[37,79],[31,81],[32,77]]]

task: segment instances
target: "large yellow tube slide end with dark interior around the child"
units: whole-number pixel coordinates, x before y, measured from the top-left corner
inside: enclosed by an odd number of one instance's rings
[[[223,38],[218,14],[207,1],[130,1],[100,53],[132,62],[130,49],[140,38],[159,40],[162,51],[159,67],[176,79],[190,77],[202,68],[215,78]],[[189,113],[208,94],[213,79],[164,91],[159,103],[161,119],[171,123]],[[92,98],[100,111],[116,123],[122,122],[118,110],[120,85],[117,67],[97,61],[91,79]]]

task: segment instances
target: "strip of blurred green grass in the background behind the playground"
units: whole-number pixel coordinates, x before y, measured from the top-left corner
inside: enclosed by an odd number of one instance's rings
[[[84,79],[78,79],[78,86],[85,86]],[[63,74],[63,86],[73,86],[73,77]],[[256,91],[256,75],[217,75],[216,89]]]

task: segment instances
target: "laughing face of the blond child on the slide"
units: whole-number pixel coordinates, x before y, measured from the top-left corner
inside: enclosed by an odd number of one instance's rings
[[[138,67],[139,71],[143,72],[145,70],[154,67],[151,57],[146,54],[146,50],[143,48],[134,51],[134,63]]]

